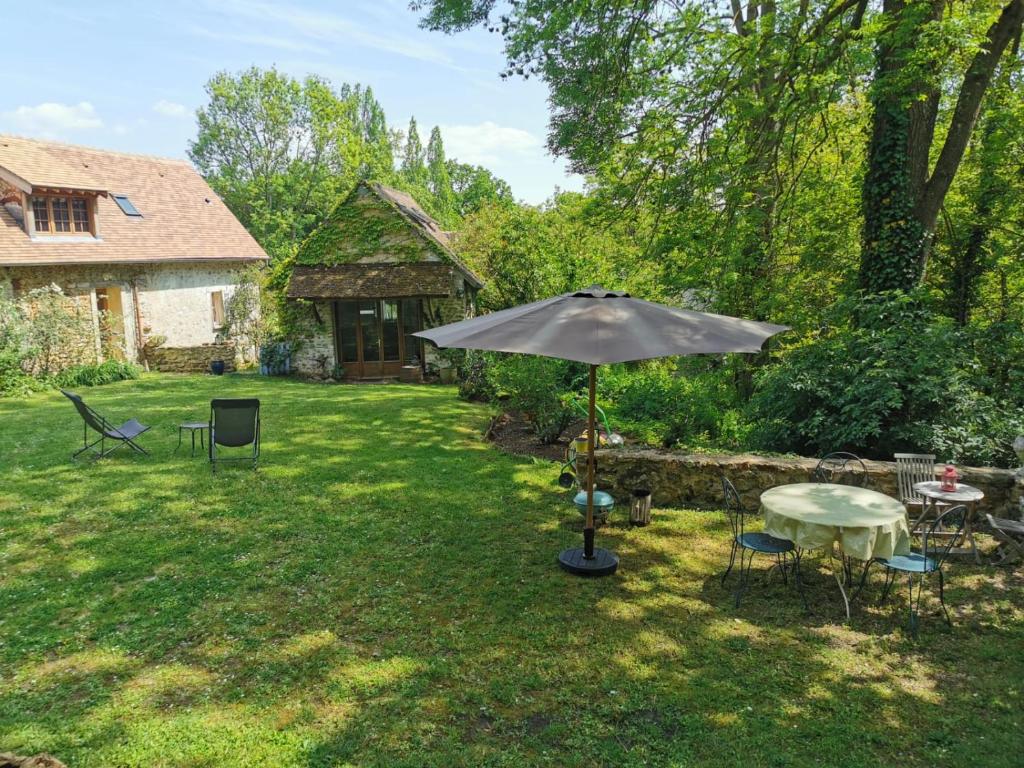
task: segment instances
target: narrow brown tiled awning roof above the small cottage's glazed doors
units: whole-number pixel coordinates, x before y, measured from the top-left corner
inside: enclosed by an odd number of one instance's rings
[[[383,299],[451,296],[454,267],[442,263],[296,266],[288,285],[292,299]]]

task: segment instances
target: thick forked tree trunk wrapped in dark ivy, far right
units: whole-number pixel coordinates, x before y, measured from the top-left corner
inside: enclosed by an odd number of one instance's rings
[[[883,2],[863,185],[860,287],[868,294],[907,291],[920,284],[939,211],[982,100],[1004,52],[1024,25],[1024,0],[999,3],[994,10],[988,3],[966,6],[958,11],[940,0]],[[953,34],[961,37],[943,34],[950,22],[956,23]],[[965,29],[979,27],[983,32],[964,44]],[[947,63],[965,55],[969,61],[963,72]],[[943,91],[953,78],[955,86]],[[949,113],[943,135],[938,128],[944,102]]]

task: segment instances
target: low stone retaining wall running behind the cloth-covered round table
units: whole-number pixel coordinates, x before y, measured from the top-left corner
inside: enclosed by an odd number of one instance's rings
[[[628,504],[634,488],[648,488],[654,507],[720,509],[722,475],[739,493],[744,506],[756,510],[762,492],[792,482],[809,482],[817,459],[771,459],[763,456],[700,456],[665,451],[604,449],[596,452],[597,486],[621,504]],[[867,487],[897,497],[896,465],[865,461]],[[941,467],[936,469],[941,471]],[[1010,469],[957,467],[964,482],[981,488],[981,513],[1018,518],[1024,481]]]

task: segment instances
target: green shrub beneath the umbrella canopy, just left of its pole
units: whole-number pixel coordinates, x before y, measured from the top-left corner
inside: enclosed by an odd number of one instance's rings
[[[525,414],[542,442],[554,442],[572,421],[567,393],[580,388],[580,364],[534,355],[496,360],[490,379],[508,403]]]

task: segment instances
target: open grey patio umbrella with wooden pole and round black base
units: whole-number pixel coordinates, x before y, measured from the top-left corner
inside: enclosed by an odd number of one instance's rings
[[[597,367],[682,354],[757,352],[785,326],[726,317],[634,299],[628,293],[591,286],[500,312],[471,317],[415,334],[439,347],[520,352],[577,360],[590,366],[587,453],[587,522],[584,546],[563,551],[558,561],[585,575],[613,573],[618,558],[594,547],[594,400]]]

